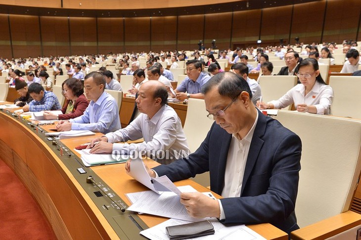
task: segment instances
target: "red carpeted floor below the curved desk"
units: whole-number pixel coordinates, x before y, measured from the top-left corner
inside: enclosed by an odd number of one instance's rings
[[[45,215],[15,173],[0,159],[0,239],[55,240]]]

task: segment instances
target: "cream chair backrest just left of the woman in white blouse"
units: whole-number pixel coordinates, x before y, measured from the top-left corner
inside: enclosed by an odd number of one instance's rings
[[[289,89],[297,84],[296,76],[260,76],[262,101],[270,102],[282,97]],[[291,105],[284,108],[290,110]]]

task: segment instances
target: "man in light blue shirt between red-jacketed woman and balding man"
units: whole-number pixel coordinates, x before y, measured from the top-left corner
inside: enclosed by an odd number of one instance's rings
[[[104,91],[105,79],[101,73],[91,72],[85,76],[84,92],[90,100],[84,114],[71,120],[60,120],[58,131],[90,130],[92,132],[114,132],[121,128],[118,105],[115,99]]]

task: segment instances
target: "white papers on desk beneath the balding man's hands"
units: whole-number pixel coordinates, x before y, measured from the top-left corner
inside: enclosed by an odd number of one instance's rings
[[[91,154],[90,149],[76,151],[81,154],[80,159],[86,166],[121,163],[126,162],[129,159],[129,157],[125,155],[122,155],[120,158],[115,158],[111,154]]]

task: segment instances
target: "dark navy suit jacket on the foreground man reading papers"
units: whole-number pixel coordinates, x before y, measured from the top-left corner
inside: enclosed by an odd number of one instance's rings
[[[258,113],[239,198],[222,199],[224,223],[269,222],[286,233],[298,229],[294,212],[301,169],[301,140],[277,120]],[[211,190],[224,188],[232,135],[214,123],[197,151],[188,159],[153,168],[172,181],[210,172]]]

